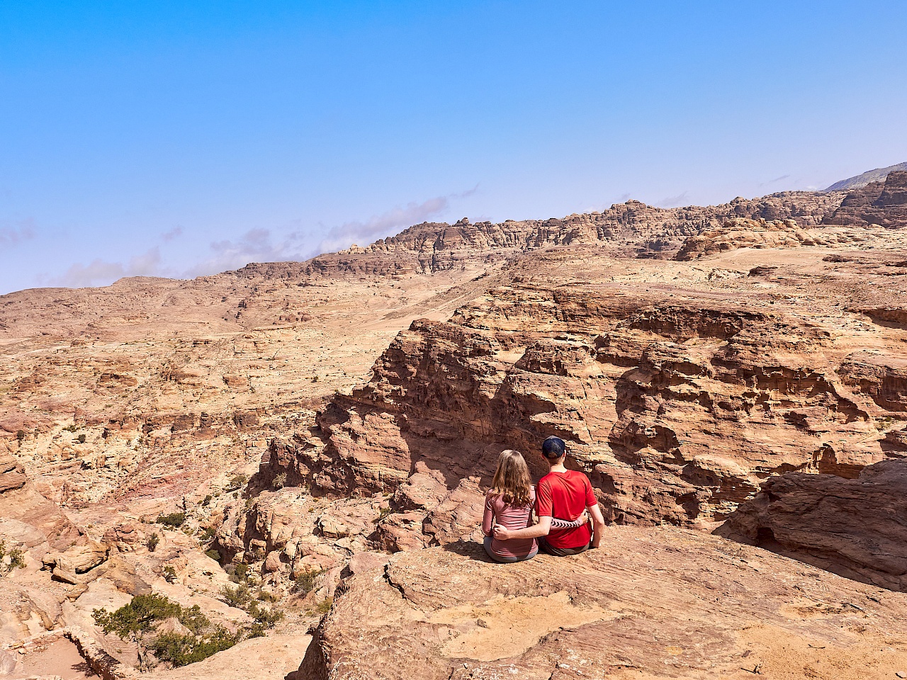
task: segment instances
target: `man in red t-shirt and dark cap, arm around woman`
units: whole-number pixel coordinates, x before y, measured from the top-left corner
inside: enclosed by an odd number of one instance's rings
[[[548,461],[548,474],[539,480],[535,491],[535,514],[539,523],[525,529],[506,529],[494,525],[494,537],[504,539],[539,539],[539,548],[550,555],[578,555],[598,548],[605,519],[601,516],[599,500],[595,498],[589,478],[582,472],[567,470],[564,457],[567,446],[558,437],[549,437],[541,444],[541,453]],[[576,519],[589,510],[593,529],[584,524],[575,529],[551,529],[551,518]]]

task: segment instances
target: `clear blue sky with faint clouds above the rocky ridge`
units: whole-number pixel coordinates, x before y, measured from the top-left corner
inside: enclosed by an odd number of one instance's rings
[[[0,3],[0,293],[907,160],[902,2]]]

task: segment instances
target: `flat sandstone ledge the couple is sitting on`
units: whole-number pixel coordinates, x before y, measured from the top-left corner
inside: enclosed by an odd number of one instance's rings
[[[337,589],[288,680],[891,678],[907,596],[680,529],[576,558],[406,552]]]

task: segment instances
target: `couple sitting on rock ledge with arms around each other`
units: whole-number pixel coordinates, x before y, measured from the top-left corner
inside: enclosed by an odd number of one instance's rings
[[[539,549],[564,556],[599,547],[605,520],[589,478],[564,467],[563,440],[549,437],[541,452],[549,471],[537,489],[522,453],[508,450],[498,459],[482,522],[485,552],[496,562],[532,559]]]

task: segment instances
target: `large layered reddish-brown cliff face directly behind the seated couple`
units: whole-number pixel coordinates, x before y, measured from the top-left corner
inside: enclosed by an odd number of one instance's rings
[[[529,453],[539,475],[551,434],[618,523],[707,526],[772,475],[853,478],[903,450],[900,326],[863,315],[907,283],[884,237],[846,257],[802,244],[705,267],[583,247],[516,261],[508,285],[398,335],[371,382],[336,396],[314,436],[272,445],[263,473],[393,492],[390,549],[468,533],[451,496],[473,517],[497,453]]]

